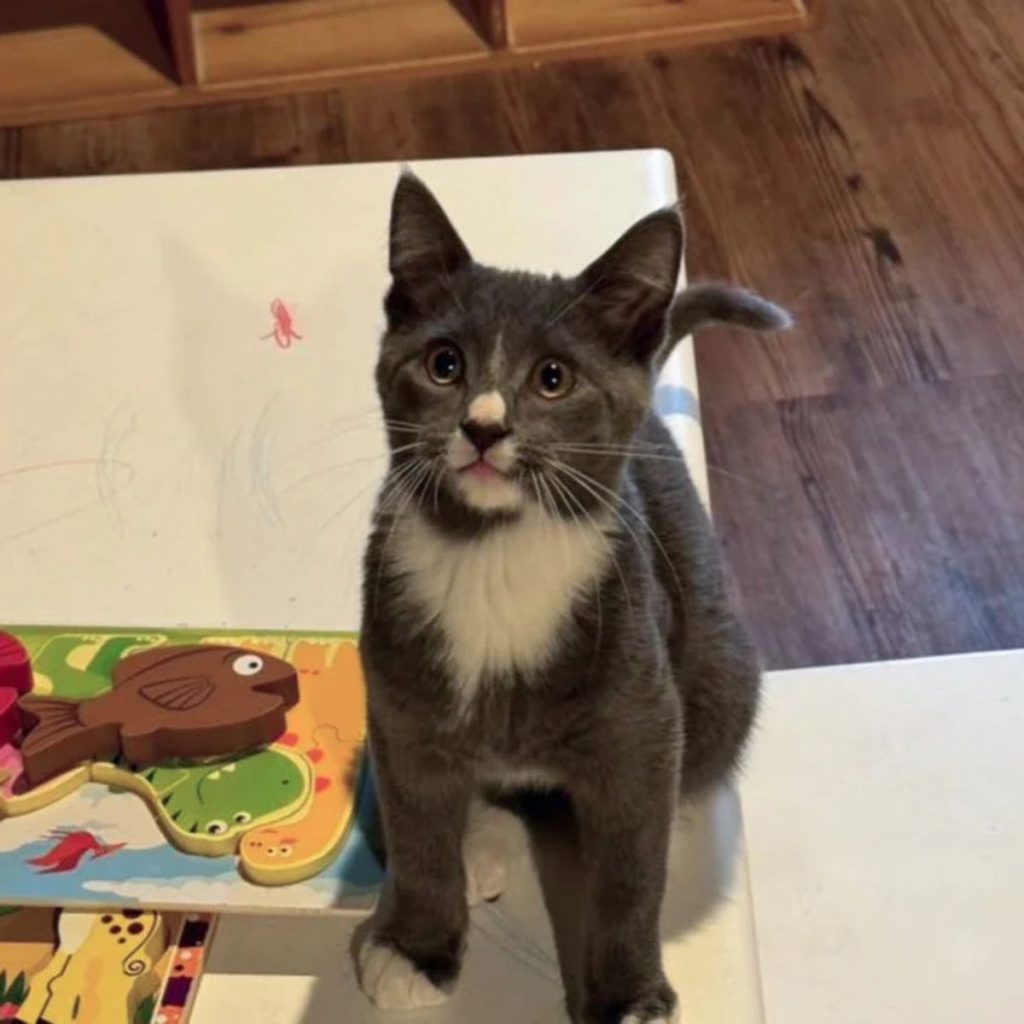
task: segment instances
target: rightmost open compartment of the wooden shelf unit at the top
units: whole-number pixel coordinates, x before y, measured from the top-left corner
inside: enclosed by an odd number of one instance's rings
[[[703,42],[807,25],[804,0],[506,0],[509,44],[520,51]]]

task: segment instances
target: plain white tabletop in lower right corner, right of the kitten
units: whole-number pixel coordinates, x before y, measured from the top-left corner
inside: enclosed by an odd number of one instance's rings
[[[1024,651],[770,677],[742,785],[768,1024],[1024,1012]]]

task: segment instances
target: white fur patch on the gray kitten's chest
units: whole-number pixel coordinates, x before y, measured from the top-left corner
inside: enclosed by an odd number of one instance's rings
[[[445,537],[415,513],[393,551],[418,610],[444,633],[465,703],[490,674],[544,666],[573,599],[603,574],[609,543],[594,523],[555,522],[539,509],[474,540]]]

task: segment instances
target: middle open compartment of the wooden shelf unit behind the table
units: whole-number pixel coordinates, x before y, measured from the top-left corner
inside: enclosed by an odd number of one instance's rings
[[[450,0],[198,0],[200,81],[283,78],[449,65],[487,46]]]

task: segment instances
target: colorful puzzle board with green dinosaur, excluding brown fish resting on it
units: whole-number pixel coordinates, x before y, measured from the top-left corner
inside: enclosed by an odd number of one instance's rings
[[[219,644],[298,675],[287,730],[238,757],[137,769],[94,761],[29,785],[0,746],[0,903],[247,910],[358,907],[380,880],[366,691],[345,634],[6,627],[33,694],[101,700],[123,657]]]

